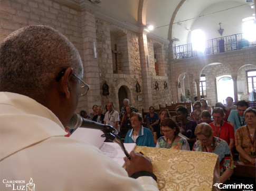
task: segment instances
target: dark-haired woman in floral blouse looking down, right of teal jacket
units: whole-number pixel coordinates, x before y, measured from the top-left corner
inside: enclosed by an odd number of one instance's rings
[[[165,118],[160,123],[164,136],[157,140],[156,147],[176,150],[190,150],[187,139],[179,136],[179,126],[171,118]]]

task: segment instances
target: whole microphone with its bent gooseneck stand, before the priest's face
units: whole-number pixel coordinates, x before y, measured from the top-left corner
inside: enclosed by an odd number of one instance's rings
[[[115,128],[113,128],[111,125],[104,125],[101,123],[92,122],[91,120],[82,118],[78,114],[73,114],[67,127],[70,129],[74,129],[74,128],[78,128],[78,127],[99,129],[104,133],[104,135],[101,135],[101,137],[106,137],[107,139],[111,140],[112,142],[117,143],[121,147],[121,149],[125,153],[125,155],[129,159],[131,158],[125,148],[124,143],[122,143],[121,138],[118,135],[116,135],[117,130]]]

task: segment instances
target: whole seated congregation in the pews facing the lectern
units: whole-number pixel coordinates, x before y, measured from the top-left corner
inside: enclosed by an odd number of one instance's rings
[[[220,160],[220,183],[225,183],[235,164],[255,166],[256,148],[256,110],[244,100],[233,104],[233,98],[227,97],[226,101],[226,106],[216,103],[212,108],[205,99],[190,108],[188,103],[159,110],[150,106],[149,113],[141,115],[125,99],[120,114],[110,102],[105,115],[101,106],[93,106],[94,116],[89,119],[115,127],[124,143],[214,153]]]

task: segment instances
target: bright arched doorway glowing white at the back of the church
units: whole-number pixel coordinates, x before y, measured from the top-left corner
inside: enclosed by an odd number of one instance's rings
[[[220,76],[216,78],[217,100],[226,104],[226,97],[234,97],[233,79],[230,76]]]

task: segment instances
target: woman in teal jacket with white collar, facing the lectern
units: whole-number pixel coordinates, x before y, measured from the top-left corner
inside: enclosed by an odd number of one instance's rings
[[[125,143],[136,143],[137,146],[155,147],[151,130],[141,125],[143,122],[142,115],[132,113],[130,118],[132,129],[128,130],[125,136]]]

